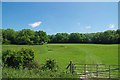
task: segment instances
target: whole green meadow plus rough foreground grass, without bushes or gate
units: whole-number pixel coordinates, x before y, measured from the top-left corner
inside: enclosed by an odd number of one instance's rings
[[[3,78],[71,78],[66,74],[70,61],[79,64],[118,64],[117,44],[46,44],[46,45],[2,45],[2,50],[20,50],[30,48],[35,52],[35,61],[40,65],[46,59],[55,59],[59,70],[57,72],[41,71],[39,69],[22,70],[3,68]]]

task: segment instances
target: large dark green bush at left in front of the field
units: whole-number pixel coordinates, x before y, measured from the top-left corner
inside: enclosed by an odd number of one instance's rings
[[[2,54],[4,66],[12,68],[25,68],[27,64],[34,61],[34,51],[32,49],[21,49],[20,51],[6,50]]]

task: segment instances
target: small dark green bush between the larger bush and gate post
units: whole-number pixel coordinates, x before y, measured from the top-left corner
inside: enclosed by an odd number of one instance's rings
[[[56,71],[58,69],[58,65],[57,65],[55,60],[47,59],[46,63],[43,65],[42,69],[44,69],[44,70],[48,69],[48,70],[52,70],[52,71],[55,70]]]

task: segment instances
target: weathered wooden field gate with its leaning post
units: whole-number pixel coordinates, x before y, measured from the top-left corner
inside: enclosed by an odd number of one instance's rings
[[[78,75],[80,78],[119,78],[120,65],[107,64],[79,64],[72,63],[67,66],[70,67],[72,75]]]

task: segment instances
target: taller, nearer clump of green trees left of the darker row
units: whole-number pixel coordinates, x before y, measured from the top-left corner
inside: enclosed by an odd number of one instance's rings
[[[30,29],[22,29],[14,31],[13,29],[2,29],[3,44],[44,44],[48,42],[48,36],[44,31],[33,31]]]

